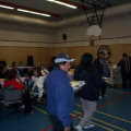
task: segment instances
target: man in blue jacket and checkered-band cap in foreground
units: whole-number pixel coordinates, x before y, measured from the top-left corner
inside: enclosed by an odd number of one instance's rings
[[[47,111],[55,124],[55,131],[73,131],[70,114],[73,112],[74,93],[68,79],[70,59],[67,53],[60,53],[55,59],[55,69],[46,80]]]

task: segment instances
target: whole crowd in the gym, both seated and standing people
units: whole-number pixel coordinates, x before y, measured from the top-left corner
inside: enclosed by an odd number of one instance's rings
[[[95,127],[92,124],[92,117],[96,110],[97,100],[106,96],[107,82],[104,81],[104,78],[110,78],[110,71],[104,57],[105,53],[102,51],[93,61],[93,55],[86,52],[74,69],[73,79],[85,82],[85,85],[76,92],[84,111],[83,119],[76,126],[78,131]],[[120,67],[122,87],[126,88],[127,80],[131,84],[131,59],[127,53],[123,53],[122,57],[117,66]],[[55,58],[53,70],[50,73],[44,64],[40,64],[40,67],[34,68],[33,74],[26,72],[24,81],[21,80],[21,72],[15,62],[9,72],[5,62],[3,62],[0,64],[0,79],[5,79],[4,88],[12,85],[13,90],[28,88],[29,93],[27,93],[29,96],[37,96],[37,102],[40,102],[44,86],[46,86],[47,111],[55,124],[55,131],[73,131],[70,115],[74,109],[74,92],[68,78],[71,68],[70,62],[73,61],[74,59],[70,59],[67,53],[60,53]],[[22,61],[20,64],[23,64]],[[32,79],[32,75],[35,76],[35,80]]]

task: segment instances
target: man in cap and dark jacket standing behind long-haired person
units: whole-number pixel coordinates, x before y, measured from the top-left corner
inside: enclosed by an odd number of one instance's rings
[[[105,53],[103,51],[98,52],[98,58],[94,60],[94,67],[100,72],[102,78],[110,78],[108,63],[104,57],[105,57]],[[103,98],[104,96],[106,96],[105,95],[106,86],[107,86],[107,82],[104,82],[99,98]]]

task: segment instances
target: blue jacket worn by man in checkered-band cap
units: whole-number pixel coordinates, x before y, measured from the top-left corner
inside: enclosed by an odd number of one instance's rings
[[[73,112],[74,93],[68,79],[68,73],[55,68],[46,80],[47,111],[57,116],[64,128],[71,123],[70,114]]]

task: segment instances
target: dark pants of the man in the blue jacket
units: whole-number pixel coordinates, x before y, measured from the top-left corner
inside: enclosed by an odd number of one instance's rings
[[[49,117],[55,126],[53,131],[64,131],[64,127],[63,127],[62,122],[58,119],[57,116],[49,115]],[[70,127],[71,127],[70,131],[74,131],[72,123]]]

